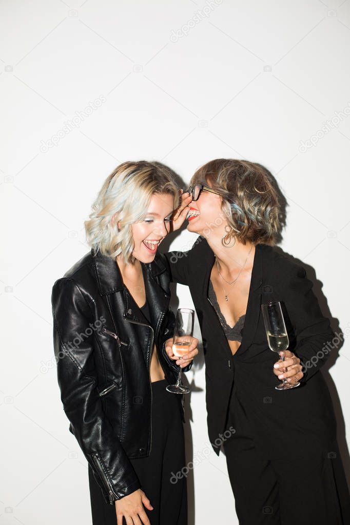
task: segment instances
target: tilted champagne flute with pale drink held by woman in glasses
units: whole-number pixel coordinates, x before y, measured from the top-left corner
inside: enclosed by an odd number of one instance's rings
[[[285,329],[280,301],[270,301],[267,304],[262,304],[261,310],[270,350],[278,354],[283,350],[287,350],[289,346],[289,338],[287,330]],[[280,355],[280,358],[282,361],[285,361],[285,357],[283,355]],[[285,369],[283,369],[283,372],[285,372]],[[295,386],[299,385],[299,381],[296,383],[288,383],[287,377],[284,377],[282,383],[279,383],[277,386],[275,386],[275,389],[289,390],[289,388],[294,388]]]

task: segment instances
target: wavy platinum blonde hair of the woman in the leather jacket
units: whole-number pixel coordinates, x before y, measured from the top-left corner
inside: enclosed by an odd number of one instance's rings
[[[131,225],[145,218],[154,193],[173,195],[174,209],[178,206],[179,189],[166,166],[127,161],[115,168],[104,181],[89,220],[84,222],[87,243],[95,254],[100,251],[113,258],[122,254],[126,264],[135,261]]]

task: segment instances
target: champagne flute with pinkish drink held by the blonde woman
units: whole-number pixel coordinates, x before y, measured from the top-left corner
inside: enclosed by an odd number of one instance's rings
[[[182,359],[182,356],[188,353],[189,345],[193,339],[193,325],[195,320],[195,311],[189,308],[178,308],[176,312],[175,330],[173,336],[173,352],[176,357]],[[188,394],[190,388],[184,386],[181,381],[182,368],[179,366],[177,381],[175,385],[168,385],[166,390],[173,394]]]

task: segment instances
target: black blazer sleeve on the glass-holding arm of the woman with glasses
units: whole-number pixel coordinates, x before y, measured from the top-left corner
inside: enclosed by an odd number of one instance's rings
[[[308,381],[326,362],[335,337],[329,319],[322,315],[312,286],[305,269],[295,265],[285,290],[287,298],[284,302],[296,335],[294,353],[303,365],[303,382]]]

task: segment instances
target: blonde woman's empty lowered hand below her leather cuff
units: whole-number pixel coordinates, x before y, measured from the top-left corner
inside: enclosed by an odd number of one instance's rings
[[[123,516],[128,525],[129,523],[134,523],[134,525],[151,525],[143,506],[148,510],[153,510],[150,500],[141,489],[137,489],[128,496],[116,500],[115,512],[118,525],[122,525]]]

